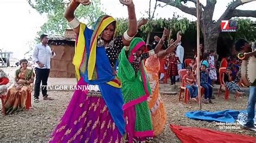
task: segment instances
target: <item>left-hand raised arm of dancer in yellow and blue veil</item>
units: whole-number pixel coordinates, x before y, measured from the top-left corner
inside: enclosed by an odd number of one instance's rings
[[[77,18],[75,18],[75,10],[77,9],[79,4],[89,5],[90,3],[90,0],[72,0],[68,8],[66,8],[64,12],[64,17],[66,18],[66,20],[68,20],[69,25],[73,28],[73,31],[76,34],[79,34],[80,22],[77,20]]]

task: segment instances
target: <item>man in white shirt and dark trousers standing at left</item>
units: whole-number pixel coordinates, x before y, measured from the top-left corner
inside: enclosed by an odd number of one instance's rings
[[[48,43],[48,35],[42,34],[41,43],[37,44],[35,49],[33,50],[32,59],[33,62],[36,62],[36,82],[35,82],[35,94],[34,94],[34,102],[39,102],[39,94],[40,94],[40,84],[42,81],[42,94],[44,100],[52,100],[52,98],[48,97],[46,86],[48,81],[48,76],[51,68],[51,58],[53,58],[56,54],[53,52],[53,49],[47,44]]]

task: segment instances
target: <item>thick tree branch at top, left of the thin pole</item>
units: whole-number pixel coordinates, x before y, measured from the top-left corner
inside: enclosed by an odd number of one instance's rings
[[[171,6],[174,6],[178,9],[180,9],[183,12],[186,12],[190,15],[193,15],[193,16],[197,17],[197,9],[196,8],[188,8],[187,6],[185,6],[183,4],[178,5],[178,4],[176,4],[175,2],[173,2],[171,0],[157,0],[157,1],[169,4]]]

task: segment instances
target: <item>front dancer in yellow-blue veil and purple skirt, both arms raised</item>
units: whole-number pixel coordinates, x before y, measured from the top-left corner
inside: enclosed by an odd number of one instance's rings
[[[129,29],[120,37],[114,37],[116,20],[111,16],[100,16],[93,30],[75,18],[77,6],[89,5],[89,0],[73,0],[66,9],[64,16],[77,34],[77,86],[87,89],[74,92],[50,142],[124,142],[124,101],[115,66],[122,48],[129,47],[137,33],[137,20],[133,2],[120,2],[129,13]]]

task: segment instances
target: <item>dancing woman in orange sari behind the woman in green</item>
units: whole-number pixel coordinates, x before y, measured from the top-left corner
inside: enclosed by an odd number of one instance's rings
[[[165,40],[165,39],[162,39]],[[154,135],[159,135],[163,130],[166,123],[166,112],[164,108],[163,100],[159,94],[159,80],[158,80],[158,71],[160,70],[160,61],[159,59],[164,58],[167,54],[174,51],[177,47],[179,41],[181,40],[181,35],[178,32],[177,40],[173,42],[171,39],[170,46],[160,51],[153,56],[150,56],[146,59],[145,69],[147,73],[147,77],[149,78],[150,88],[152,94],[149,98],[147,98],[147,104],[149,105],[149,109],[151,112],[151,120],[153,125]],[[152,46],[151,49],[147,47],[149,50],[154,49],[156,46]]]

